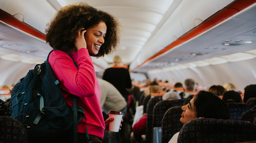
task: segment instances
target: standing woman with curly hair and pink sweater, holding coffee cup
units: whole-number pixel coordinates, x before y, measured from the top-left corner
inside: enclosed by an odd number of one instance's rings
[[[76,3],[60,8],[47,25],[46,41],[55,50],[49,56],[49,63],[68,106],[72,106],[77,95],[76,105],[82,107],[86,115],[77,126],[78,142],[86,141],[86,124],[93,142],[101,142],[105,126],[114,119],[104,119],[100,107],[100,88],[92,58],[113,52],[119,43],[119,23],[115,17],[89,6]]]

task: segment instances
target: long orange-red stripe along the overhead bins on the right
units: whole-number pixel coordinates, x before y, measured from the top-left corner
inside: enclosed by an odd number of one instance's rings
[[[141,67],[145,63],[153,60],[155,57],[160,56],[163,53],[169,51],[173,47],[178,46],[181,43],[183,43],[183,42],[185,42],[189,39],[192,39],[193,37],[203,33],[204,31],[212,28],[213,26],[223,22],[227,18],[233,16],[234,14],[236,14],[239,11],[249,7],[250,5],[252,5],[254,3],[255,3],[255,0],[235,0],[234,2],[229,4],[228,6],[226,6],[225,8],[223,8],[222,10],[218,11],[213,16],[211,16],[210,18],[205,20],[202,24],[200,24],[197,27],[191,29],[189,32],[182,35],[179,39],[172,42],[170,45],[168,45],[167,47],[162,49],[160,52],[158,52],[154,56],[152,56],[149,59],[147,59],[146,61],[144,61],[141,65],[138,65],[137,67],[135,67],[134,70],[138,69],[139,67]]]

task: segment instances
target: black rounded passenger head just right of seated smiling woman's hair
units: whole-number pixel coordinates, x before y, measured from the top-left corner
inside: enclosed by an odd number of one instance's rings
[[[223,94],[222,100],[225,103],[229,103],[229,102],[237,102],[237,103],[242,103],[242,98],[240,93],[234,91],[234,90],[230,90],[230,91],[226,91]]]

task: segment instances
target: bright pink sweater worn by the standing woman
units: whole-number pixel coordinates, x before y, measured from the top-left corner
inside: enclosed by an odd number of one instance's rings
[[[105,124],[100,107],[100,88],[95,74],[92,58],[86,48],[81,48],[77,53],[71,52],[79,69],[73,60],[62,51],[53,51],[49,56],[49,63],[68,106],[72,106],[73,98],[69,93],[77,95],[76,105],[84,109],[87,130],[89,135],[96,135],[103,139]],[[77,132],[86,133],[85,119],[77,126]]]

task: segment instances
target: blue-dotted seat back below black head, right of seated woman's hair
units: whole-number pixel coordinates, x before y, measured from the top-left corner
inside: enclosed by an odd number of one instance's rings
[[[226,103],[230,111],[230,119],[240,120],[242,114],[254,106],[245,103]]]

